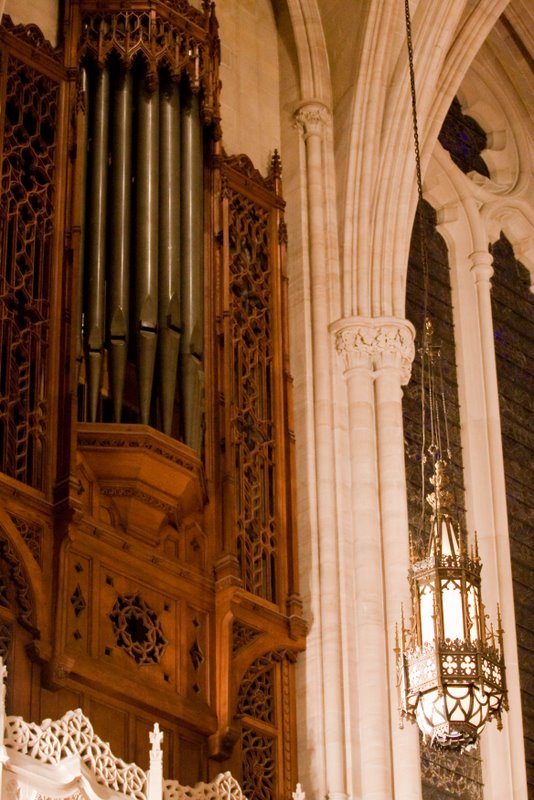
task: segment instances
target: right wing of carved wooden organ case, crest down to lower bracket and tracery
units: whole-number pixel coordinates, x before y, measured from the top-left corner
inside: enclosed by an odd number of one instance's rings
[[[260,800],[296,780],[294,661],[306,625],[297,593],[281,166],[215,156],[214,266],[222,489],[216,567],[217,735],[212,757]],[[235,745],[235,747],[234,747]],[[253,788],[254,787],[254,788]]]

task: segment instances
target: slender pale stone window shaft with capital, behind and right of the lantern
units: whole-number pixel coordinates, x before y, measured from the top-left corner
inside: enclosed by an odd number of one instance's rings
[[[505,715],[504,731],[488,725],[482,736],[484,798],[526,800],[526,771],[521,717],[521,696],[517,655],[514,598],[508,513],[499,409],[499,388],[493,340],[491,311],[491,255],[486,250],[469,257],[475,281],[480,348],[482,354],[487,441],[489,451],[490,503],[493,507],[493,530],[479,530],[480,554],[484,570],[482,592],[484,602],[494,618],[492,605],[499,602],[504,628],[504,654],[510,711]]]

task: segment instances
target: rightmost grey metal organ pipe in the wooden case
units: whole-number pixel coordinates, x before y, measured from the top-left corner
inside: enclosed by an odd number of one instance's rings
[[[202,128],[198,95],[183,104],[181,114],[182,315],[181,384],[184,440],[200,450],[203,350],[203,198]]]

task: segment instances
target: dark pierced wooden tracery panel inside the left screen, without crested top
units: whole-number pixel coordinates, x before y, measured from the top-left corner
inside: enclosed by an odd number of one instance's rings
[[[58,82],[4,55],[0,240],[0,469],[43,488]]]

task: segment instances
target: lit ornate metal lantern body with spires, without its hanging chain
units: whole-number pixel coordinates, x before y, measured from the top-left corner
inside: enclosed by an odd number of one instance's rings
[[[500,614],[486,627],[478,547],[466,552],[450,516],[446,463],[436,460],[426,558],[410,567],[413,616],[397,641],[401,716],[434,747],[466,749],[507,708]]]

